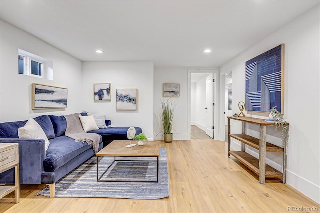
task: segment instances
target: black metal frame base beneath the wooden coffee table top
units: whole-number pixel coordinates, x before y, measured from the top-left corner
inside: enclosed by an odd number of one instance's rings
[[[121,156],[123,158],[125,156]],[[138,156],[139,158],[143,158],[143,156]],[[150,158],[150,156],[145,156]],[[129,157],[132,158],[132,157]],[[142,180],[101,180],[101,178],[104,176],[104,174],[109,170],[109,168],[112,167],[114,162],[118,161],[130,161],[130,162],[157,162],[157,171],[156,171],[156,181],[154,180],[147,180],[147,181],[142,181]],[[99,156],[96,156],[96,181],[98,182],[158,182],[159,181],[159,156],[156,157],[156,160],[116,160],[116,157],[114,156],[113,162],[109,165],[109,167],[103,172],[103,174],[99,177]]]

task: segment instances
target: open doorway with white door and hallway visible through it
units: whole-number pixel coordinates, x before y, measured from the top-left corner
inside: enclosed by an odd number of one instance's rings
[[[191,139],[214,138],[213,73],[191,73]]]

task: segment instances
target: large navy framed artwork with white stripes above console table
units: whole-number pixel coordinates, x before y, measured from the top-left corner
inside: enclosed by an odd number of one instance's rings
[[[284,44],[245,62],[245,110],[284,113]]]

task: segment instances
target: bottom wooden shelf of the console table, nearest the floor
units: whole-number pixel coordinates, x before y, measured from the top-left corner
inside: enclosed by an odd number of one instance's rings
[[[259,175],[259,160],[244,151],[229,151],[229,154],[238,159],[248,169]],[[283,178],[283,173],[265,164],[266,178]]]

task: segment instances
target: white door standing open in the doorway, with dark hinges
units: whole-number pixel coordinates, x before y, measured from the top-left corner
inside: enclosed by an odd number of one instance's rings
[[[213,74],[206,77],[206,131],[205,133],[212,137],[214,136],[214,85]]]

